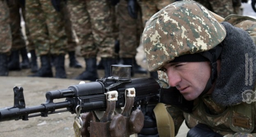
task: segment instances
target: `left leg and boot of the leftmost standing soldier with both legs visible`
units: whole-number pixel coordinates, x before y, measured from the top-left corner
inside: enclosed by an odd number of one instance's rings
[[[32,77],[53,77],[50,65],[50,40],[46,19],[39,0],[26,0],[26,24],[29,28],[30,38],[40,56],[41,68]]]

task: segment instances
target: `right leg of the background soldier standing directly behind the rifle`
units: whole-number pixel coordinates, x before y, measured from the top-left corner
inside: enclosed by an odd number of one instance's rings
[[[116,64],[114,49],[113,23],[110,3],[105,0],[88,0],[87,9],[90,15],[95,44],[103,60],[105,77],[110,76],[110,66]]]

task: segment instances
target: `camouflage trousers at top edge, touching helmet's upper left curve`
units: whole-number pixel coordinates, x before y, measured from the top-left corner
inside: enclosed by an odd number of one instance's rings
[[[145,26],[152,15],[173,2],[175,0],[140,0],[143,26]]]

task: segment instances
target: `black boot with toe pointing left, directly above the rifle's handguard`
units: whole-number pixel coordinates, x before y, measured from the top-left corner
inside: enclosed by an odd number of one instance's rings
[[[85,71],[75,77],[76,80],[90,80],[95,81],[98,79],[96,58],[85,59]]]

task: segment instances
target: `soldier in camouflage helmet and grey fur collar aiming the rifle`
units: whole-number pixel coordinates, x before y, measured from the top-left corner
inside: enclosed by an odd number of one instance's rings
[[[233,20],[255,31],[251,22]],[[217,22],[198,2],[180,1],[153,15],[142,37],[149,71],[161,74],[170,94],[183,97],[167,107],[175,135],[185,120],[187,137],[256,136],[256,45],[246,31]],[[150,129],[152,121],[146,122]]]

